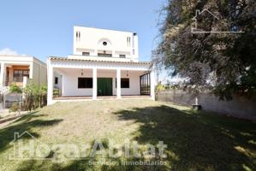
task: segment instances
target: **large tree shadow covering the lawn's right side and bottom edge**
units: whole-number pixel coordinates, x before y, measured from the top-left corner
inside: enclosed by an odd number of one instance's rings
[[[121,121],[140,127],[139,144],[168,145],[164,166],[92,165],[86,160],[68,165],[51,161],[26,161],[19,170],[256,170],[255,123],[204,112],[182,111],[166,105],[117,111]],[[254,142],[254,143],[250,143]],[[253,154],[254,153],[254,154]],[[114,159],[110,159],[114,160]],[[126,158],[135,162],[141,159]],[[114,160],[115,161],[115,160]]]

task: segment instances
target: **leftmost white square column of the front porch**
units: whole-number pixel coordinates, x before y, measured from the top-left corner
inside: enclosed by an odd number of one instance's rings
[[[53,68],[51,66],[51,61],[48,61],[48,75],[47,75],[47,105],[52,104],[52,95],[53,95]]]

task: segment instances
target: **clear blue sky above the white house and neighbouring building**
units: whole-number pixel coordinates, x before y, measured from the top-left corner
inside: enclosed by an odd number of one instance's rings
[[[150,61],[158,44],[164,0],[1,0],[0,53],[68,56],[73,27],[137,32],[140,61]]]

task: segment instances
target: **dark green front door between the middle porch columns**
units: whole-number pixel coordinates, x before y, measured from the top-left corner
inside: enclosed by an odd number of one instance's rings
[[[98,96],[112,96],[112,78],[98,78]]]

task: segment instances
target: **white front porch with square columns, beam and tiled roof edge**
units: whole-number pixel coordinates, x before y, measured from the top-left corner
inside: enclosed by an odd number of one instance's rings
[[[75,62],[49,65],[48,104],[103,98],[154,100],[154,78],[148,62],[80,62],[80,66]]]

